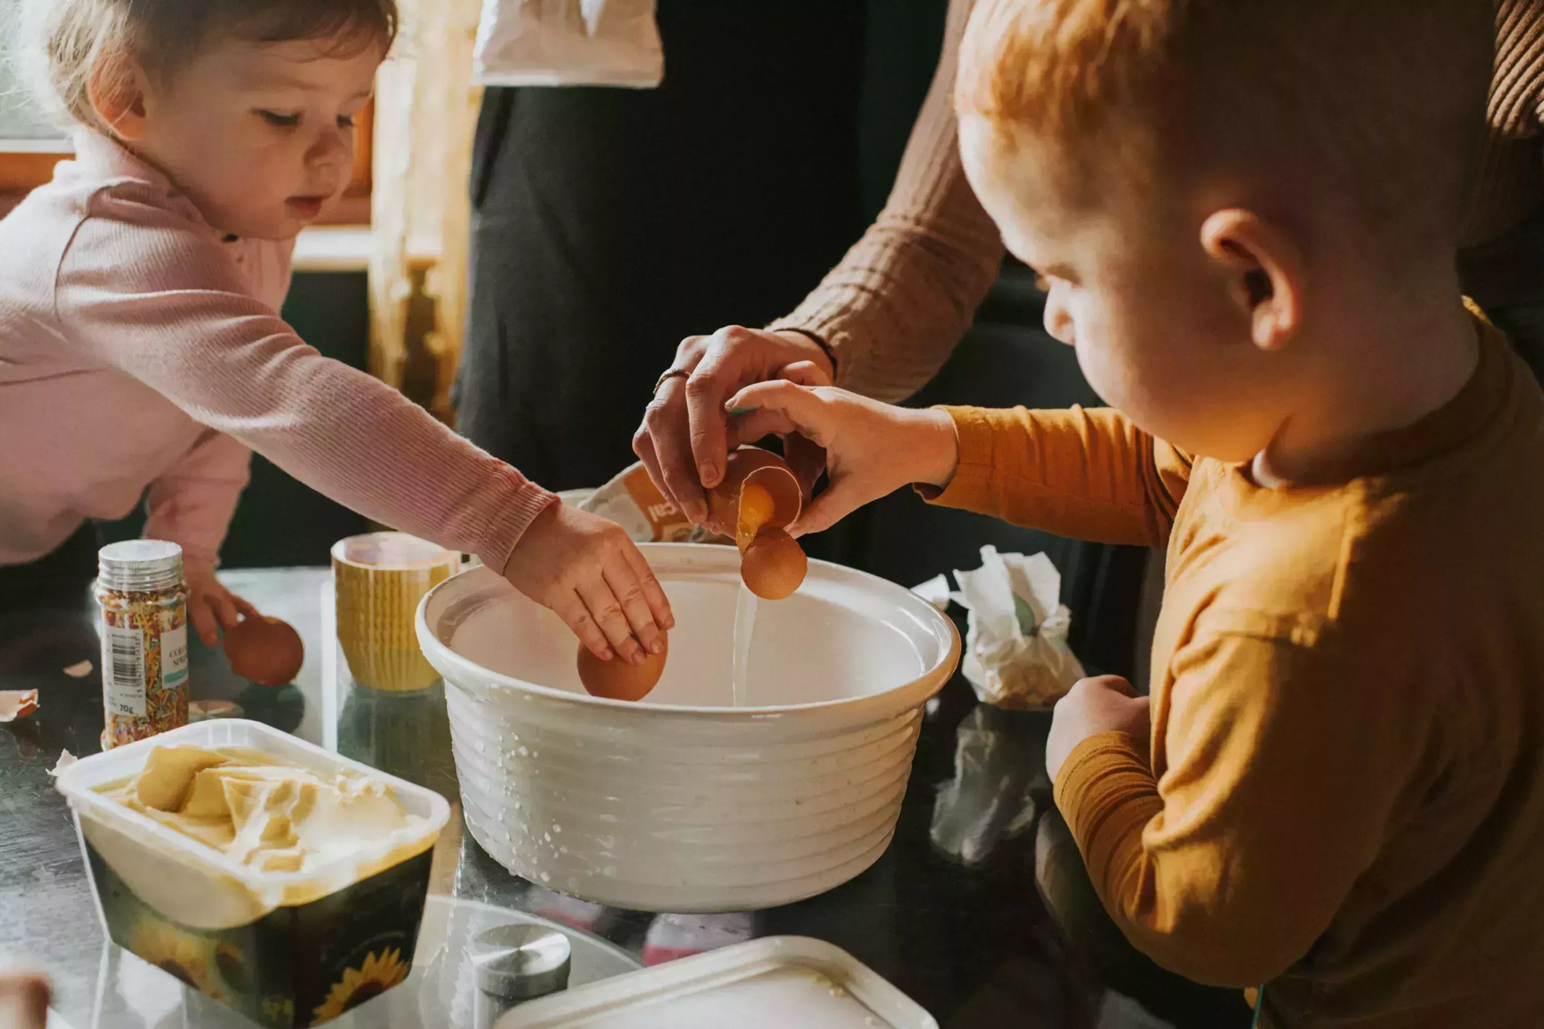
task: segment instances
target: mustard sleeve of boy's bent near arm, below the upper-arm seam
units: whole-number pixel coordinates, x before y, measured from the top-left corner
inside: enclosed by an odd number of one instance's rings
[[[1099,733],[1061,765],[1056,805],[1133,944],[1192,980],[1255,986],[1329,926],[1410,813],[1428,750],[1368,660],[1204,622],[1170,665],[1163,778],[1146,736]]]

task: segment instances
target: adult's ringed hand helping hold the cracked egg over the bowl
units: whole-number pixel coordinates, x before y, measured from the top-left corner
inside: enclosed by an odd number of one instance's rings
[[[727,326],[710,336],[687,336],[676,347],[673,369],[689,372],[664,381],[633,435],[633,452],[667,500],[693,525],[707,523],[707,494],[724,478],[730,447],[741,440],[729,424],[724,401],[752,383],[778,378],[783,369],[808,363],[811,375],[829,384],[826,352],[798,332],[761,332]],[[801,440],[789,440],[789,464],[806,494],[824,467],[824,455]],[[724,526],[709,526],[723,531]]]

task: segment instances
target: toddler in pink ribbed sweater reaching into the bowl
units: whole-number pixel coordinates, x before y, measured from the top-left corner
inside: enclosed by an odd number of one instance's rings
[[[144,495],[213,643],[258,450],[360,514],[477,554],[598,656],[670,606],[610,521],[557,503],[276,315],[295,236],[347,182],[394,0],[28,0],[76,157],[0,221],[0,565]]]

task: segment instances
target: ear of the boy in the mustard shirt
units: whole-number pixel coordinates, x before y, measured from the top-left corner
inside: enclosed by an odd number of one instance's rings
[[[1252,211],[1217,211],[1201,225],[1201,247],[1221,268],[1227,292],[1249,318],[1261,350],[1280,350],[1303,322],[1303,261],[1297,245]]]

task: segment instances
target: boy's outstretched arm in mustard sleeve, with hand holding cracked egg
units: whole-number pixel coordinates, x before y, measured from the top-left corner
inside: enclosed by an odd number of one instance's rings
[[[801,432],[826,447],[831,488],[795,532],[818,532],[916,483],[950,508],[1058,535],[1160,546],[1190,472],[1183,454],[1104,409],[914,410],[792,381],[749,386],[727,407],[743,420],[740,438]]]

